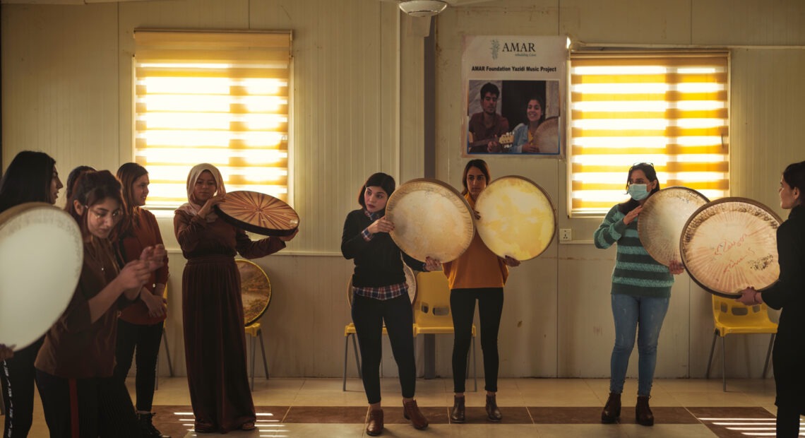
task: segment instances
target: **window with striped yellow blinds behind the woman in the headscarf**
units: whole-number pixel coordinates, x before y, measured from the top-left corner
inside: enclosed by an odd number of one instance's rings
[[[291,32],[135,31],[134,159],[149,209],[187,202],[198,163],[227,191],[288,200]]]

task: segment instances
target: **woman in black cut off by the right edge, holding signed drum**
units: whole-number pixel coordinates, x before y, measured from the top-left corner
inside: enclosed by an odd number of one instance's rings
[[[780,207],[791,210],[777,229],[780,279],[765,291],[748,287],[741,303],[766,303],[781,309],[772,364],[777,386],[777,436],[799,436],[799,415],[805,415],[805,161],[792,163],[780,179]]]

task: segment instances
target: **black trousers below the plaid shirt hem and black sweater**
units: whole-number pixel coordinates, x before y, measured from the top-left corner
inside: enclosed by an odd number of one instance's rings
[[[391,352],[403,388],[404,398],[413,398],[416,388],[414,360],[414,316],[408,295],[391,300],[353,296],[353,323],[361,349],[363,389],[369,404],[380,403],[380,360],[382,358],[383,321],[389,333]]]

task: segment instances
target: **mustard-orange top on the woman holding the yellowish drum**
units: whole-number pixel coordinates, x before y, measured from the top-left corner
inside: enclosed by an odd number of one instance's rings
[[[467,193],[464,198],[469,202],[469,206],[475,209],[473,197]],[[464,254],[452,262],[442,263],[442,267],[451,289],[503,287],[509,278],[509,267],[506,267],[506,262],[486,247],[477,229],[473,242],[470,242]]]

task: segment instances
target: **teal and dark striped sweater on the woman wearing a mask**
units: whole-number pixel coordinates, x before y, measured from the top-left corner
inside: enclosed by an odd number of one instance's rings
[[[668,267],[651,258],[638,238],[638,220],[623,223],[625,215],[615,205],[592,235],[597,248],[607,249],[617,242],[612,293],[653,298],[669,298],[674,276]]]

